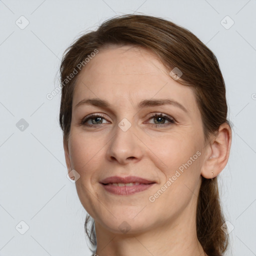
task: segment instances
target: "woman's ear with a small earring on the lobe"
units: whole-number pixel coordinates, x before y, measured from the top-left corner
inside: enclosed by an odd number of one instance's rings
[[[219,126],[218,133],[212,136],[206,145],[205,158],[201,167],[203,177],[213,178],[222,171],[227,163],[230,147],[231,128],[224,122]]]

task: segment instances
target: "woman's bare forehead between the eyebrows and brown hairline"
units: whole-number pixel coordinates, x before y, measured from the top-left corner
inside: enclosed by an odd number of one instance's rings
[[[170,78],[155,54],[128,45],[99,50],[80,71],[73,106],[84,98],[95,97],[113,104],[169,97],[186,109],[197,107],[191,88]]]

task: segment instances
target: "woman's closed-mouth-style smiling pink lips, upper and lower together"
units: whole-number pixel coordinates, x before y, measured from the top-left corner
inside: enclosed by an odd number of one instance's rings
[[[138,182],[138,185],[131,186],[116,186],[112,183],[132,183]],[[148,180],[141,177],[136,176],[128,176],[128,177],[119,177],[119,176],[111,176],[107,177],[100,181],[103,188],[113,194],[117,195],[129,195],[137,192],[144,191],[154,185],[156,182],[152,180]]]

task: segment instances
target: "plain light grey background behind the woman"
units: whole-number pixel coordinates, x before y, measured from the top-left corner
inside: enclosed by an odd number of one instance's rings
[[[0,255],[90,255],[85,210],[66,177],[60,93],[46,94],[75,38],[134,11],[184,26],[215,53],[234,125],[219,183],[234,226],[226,255],[256,255],[256,0],[0,0]]]

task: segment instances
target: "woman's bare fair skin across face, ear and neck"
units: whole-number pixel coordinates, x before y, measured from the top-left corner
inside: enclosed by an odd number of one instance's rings
[[[197,195],[201,176],[215,177],[227,163],[229,125],[220,125],[218,134],[205,141],[191,88],[172,79],[157,57],[143,48],[100,49],[78,75],[64,152],[68,171],[75,169],[80,175],[75,182],[78,197],[95,221],[96,253],[206,255],[196,236]],[[80,100],[95,97],[107,100],[110,108],[75,108]],[[187,112],[174,105],[136,108],[151,98],[176,100]],[[80,125],[92,113],[104,117],[86,122],[93,127]],[[176,122],[157,120],[150,113],[166,114]],[[123,118],[131,124],[126,131],[118,126]],[[197,151],[200,156],[155,201],[149,201]],[[99,183],[113,175],[135,175],[156,184],[132,195],[115,195]],[[123,221],[130,227],[127,232],[118,227]]]

